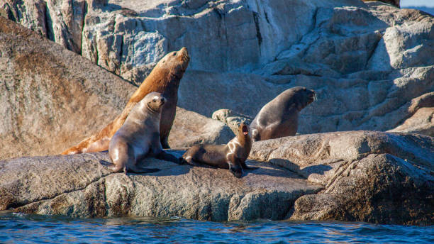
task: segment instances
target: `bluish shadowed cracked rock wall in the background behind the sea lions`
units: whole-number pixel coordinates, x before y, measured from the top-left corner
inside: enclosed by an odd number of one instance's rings
[[[179,105],[208,117],[218,109],[254,117],[284,89],[304,86],[317,91],[318,102],[301,112],[299,133],[387,131],[413,116],[412,99],[434,90],[433,16],[379,1],[0,0],[0,6],[134,84],[165,53],[186,46],[191,62]]]

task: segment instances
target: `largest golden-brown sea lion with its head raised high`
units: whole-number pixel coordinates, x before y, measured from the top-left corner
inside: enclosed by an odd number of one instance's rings
[[[121,128],[131,109],[152,91],[160,92],[162,96],[168,99],[162,109],[160,141],[163,148],[169,148],[167,139],[169,138],[177,109],[179,81],[184,75],[185,70],[187,70],[189,60],[187,48],[181,48],[177,52],[169,52],[157,63],[148,77],[140,84],[140,87],[130,97],[125,109],[123,109],[118,117],[98,133],[82,140],[78,145],[65,150],[62,155],[107,150],[111,137]]]

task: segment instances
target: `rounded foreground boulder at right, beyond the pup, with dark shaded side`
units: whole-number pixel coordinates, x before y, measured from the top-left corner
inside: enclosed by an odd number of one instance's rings
[[[253,143],[250,158],[321,184],[301,196],[291,220],[434,223],[434,138],[347,131]]]

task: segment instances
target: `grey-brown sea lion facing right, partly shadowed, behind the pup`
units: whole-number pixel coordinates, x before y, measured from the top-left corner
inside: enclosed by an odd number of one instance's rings
[[[268,140],[295,135],[299,112],[316,99],[315,91],[293,87],[262,107],[250,124],[252,140]]]

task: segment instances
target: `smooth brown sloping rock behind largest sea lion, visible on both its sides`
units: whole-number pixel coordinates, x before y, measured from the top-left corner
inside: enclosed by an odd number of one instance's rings
[[[0,67],[0,159],[61,153],[104,128],[137,89],[2,17]],[[169,137],[173,145],[226,143],[234,136],[211,118],[181,114]]]

